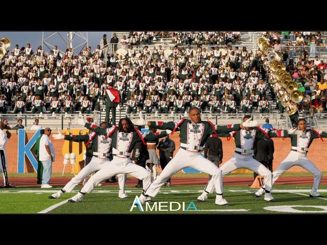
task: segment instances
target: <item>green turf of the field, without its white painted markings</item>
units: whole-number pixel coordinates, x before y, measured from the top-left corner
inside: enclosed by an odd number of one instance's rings
[[[55,192],[60,188],[46,189],[46,191]],[[76,190],[80,189],[79,187]],[[276,185],[274,190],[304,190],[311,189],[311,186],[294,186],[294,185]],[[320,189],[327,189],[327,185],[321,185]],[[19,191],[33,191],[33,193],[19,193]],[[237,213],[283,213],[276,211],[265,210],[264,207],[268,206],[285,206],[285,205],[302,205],[302,206],[326,206],[327,200],[309,198],[305,195],[309,195],[307,191],[300,191],[299,193],[273,193],[273,197],[276,202],[267,203],[262,198],[253,198],[255,189],[251,189],[248,186],[225,186],[224,198],[231,204],[230,206],[217,206],[215,205],[215,195],[210,194],[208,201],[203,203],[195,202],[198,195],[203,190],[203,186],[172,186],[162,187],[153,201],[157,202],[157,208],[159,202],[178,202],[185,203],[185,209],[190,202],[194,202],[195,206],[200,211],[148,211],[140,212],[137,208],[134,208],[130,212],[131,203],[134,200],[135,195],[139,195],[141,189],[133,187],[127,187],[127,194],[129,199],[118,198],[117,186],[100,186],[95,189],[94,192],[86,194],[84,200],[81,203],[66,203],[63,204],[49,213],[135,213],[135,214],[151,214],[151,213],[223,213],[223,214],[237,214]],[[9,191],[9,193],[8,193]],[[37,187],[26,187],[17,189],[2,189],[0,190],[0,213],[37,213],[52,205],[60,203],[72,197],[74,193],[65,193],[61,199],[49,199],[51,193],[41,193],[44,189]],[[109,193],[99,193],[97,191],[110,191]],[[178,192],[172,192],[178,191]],[[7,193],[6,193],[7,192]],[[16,192],[16,193],[13,193]],[[18,193],[17,193],[18,192]],[[327,193],[320,192],[327,198]],[[301,195],[305,194],[305,195]],[[152,207],[154,203],[150,203]],[[164,203],[161,203],[164,205]],[[167,204],[166,204],[167,205]],[[146,205],[143,205],[145,209]],[[177,205],[174,204],[175,208]],[[204,210],[228,210],[228,209],[245,209],[247,211],[242,212],[222,212],[222,211],[204,211]],[[314,207],[296,207],[296,210],[302,211],[321,211]],[[192,210],[192,209],[190,209]],[[285,213],[285,212],[284,212]],[[287,213],[287,212],[286,212]]]

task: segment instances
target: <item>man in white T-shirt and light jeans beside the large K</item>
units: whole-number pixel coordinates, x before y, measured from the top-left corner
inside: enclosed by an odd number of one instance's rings
[[[40,139],[39,161],[43,165],[41,188],[52,188],[52,186],[49,185],[49,182],[51,177],[52,162],[54,162],[56,159],[56,153],[55,153],[55,148],[49,138],[50,135],[51,135],[51,129],[45,128],[44,134]]]

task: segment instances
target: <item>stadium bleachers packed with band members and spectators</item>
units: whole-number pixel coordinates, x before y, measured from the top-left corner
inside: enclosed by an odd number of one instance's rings
[[[98,120],[104,120],[103,91],[109,82],[113,82],[114,87],[120,91],[122,99],[116,112],[116,122],[126,115],[128,107],[133,104],[130,102],[131,95],[136,99],[136,105],[133,107],[136,107],[137,112],[127,114],[131,118],[137,116],[139,111],[146,111],[147,95],[150,95],[151,100],[151,103],[149,102],[151,113],[145,114],[147,118],[183,116],[174,113],[174,109],[178,107],[178,95],[181,95],[181,106],[186,112],[191,106],[201,108],[202,104],[203,116],[217,124],[239,122],[240,114],[252,113],[259,121],[264,121],[264,118],[268,117],[274,126],[286,128],[289,126],[289,118],[285,114],[278,114],[276,89],[272,85],[273,81],[269,79],[269,65],[257,52],[256,40],[266,36],[271,46],[280,44],[281,52],[285,50],[283,58],[287,70],[294,74],[295,66],[298,68],[298,71],[295,71],[298,76],[293,78],[306,88],[303,94],[307,94],[305,102],[298,108],[299,111],[308,116],[309,125],[312,127],[327,126],[325,114],[309,115],[310,98],[314,89],[312,86],[306,86],[309,79],[312,79],[315,84],[321,79],[324,82],[327,80],[326,67],[320,69],[320,66],[317,69],[319,64],[314,61],[315,56],[318,56],[319,63],[320,60],[327,58],[325,46],[327,33],[325,32],[311,32],[308,36],[305,32],[302,34],[294,32],[293,36],[300,34],[307,42],[304,40],[299,42],[295,39],[292,44],[300,45],[293,46],[288,45],[289,36],[284,38],[285,33],[277,32],[116,32],[115,34],[119,42],[114,44],[113,48],[103,47],[92,50],[85,47],[79,54],[74,54],[69,49],[62,56],[56,50],[33,51],[28,45],[11,47],[0,64],[1,118],[9,118],[10,123],[15,124],[18,117],[24,119],[26,114],[24,123],[28,125],[35,117],[47,117],[51,118],[54,128],[61,128],[63,123],[68,127],[75,127],[74,118],[80,116],[81,101],[86,95],[90,102],[87,109]],[[126,41],[122,42],[123,36]],[[312,45],[315,44],[315,37],[318,39],[319,36],[322,44],[316,41],[316,46]],[[302,47],[307,51],[307,61],[300,59],[303,55]],[[108,51],[108,56],[104,51]],[[292,59],[294,64],[290,64]],[[303,67],[306,67],[309,72],[302,72]],[[313,71],[317,71],[318,75]],[[216,81],[218,83],[215,86]],[[146,84],[144,89],[139,85],[140,83]],[[95,84],[98,84],[98,88]],[[207,97],[203,94],[205,90],[208,93]],[[31,91],[34,92],[33,95],[30,95]],[[171,91],[172,96],[170,96]],[[189,94],[186,94],[186,91]],[[39,95],[40,99],[38,100],[35,95]],[[218,107],[221,113],[212,113],[212,101],[215,95],[220,102]],[[248,95],[248,99],[242,102],[245,95]],[[321,104],[325,112],[327,110],[325,99],[317,95],[319,105]],[[19,96],[24,103],[17,103]],[[52,114],[51,103],[54,96],[58,98],[61,105],[58,105],[58,110],[52,116],[49,114]],[[267,98],[269,113],[260,113],[262,108],[259,101],[263,96]],[[165,115],[159,113],[159,101],[162,97],[167,102],[166,105],[162,105],[162,107],[167,106],[168,114]],[[194,102],[195,100],[200,101],[199,105]],[[229,100],[233,103],[228,102]],[[68,107],[69,101],[72,110]],[[244,108],[243,105],[247,104],[249,107]],[[35,110],[39,108],[40,111]],[[18,115],[17,109],[21,109],[24,115]],[[42,112],[42,114],[34,115],[33,112]]]

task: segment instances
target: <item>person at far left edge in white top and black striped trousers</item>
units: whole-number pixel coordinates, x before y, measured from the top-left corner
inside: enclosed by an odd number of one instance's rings
[[[4,177],[5,186],[1,186],[0,188],[15,188],[9,184],[8,174],[7,174],[7,155],[6,155],[6,146],[11,137],[11,133],[5,129],[4,122],[0,121],[0,170],[2,171]]]

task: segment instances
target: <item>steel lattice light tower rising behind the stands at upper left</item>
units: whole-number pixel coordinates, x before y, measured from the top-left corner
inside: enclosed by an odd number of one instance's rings
[[[58,43],[54,43],[51,41],[51,38],[59,36],[65,43],[65,48],[72,48],[73,52],[75,54],[79,54],[82,50],[83,47],[86,45],[88,46],[88,33],[87,32],[66,32],[66,38],[64,38],[64,34],[62,32],[51,32],[50,34],[46,34],[45,32],[42,32],[42,49],[43,45],[49,48],[49,51],[53,50],[55,45],[58,46],[58,50],[60,53],[63,55],[66,53],[63,48],[59,48]],[[74,43],[76,46],[74,46]]]

